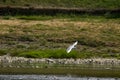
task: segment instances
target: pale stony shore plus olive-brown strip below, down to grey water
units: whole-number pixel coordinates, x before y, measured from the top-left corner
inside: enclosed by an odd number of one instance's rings
[[[118,59],[38,59],[0,56],[0,74],[54,74],[120,77]]]

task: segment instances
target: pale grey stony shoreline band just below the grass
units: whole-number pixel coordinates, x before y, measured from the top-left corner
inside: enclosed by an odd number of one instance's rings
[[[98,64],[98,65],[120,65],[120,60],[116,58],[88,58],[88,59],[52,59],[52,58],[25,58],[25,57],[11,57],[8,55],[0,56],[0,63],[12,64],[12,63],[45,63],[45,64]]]

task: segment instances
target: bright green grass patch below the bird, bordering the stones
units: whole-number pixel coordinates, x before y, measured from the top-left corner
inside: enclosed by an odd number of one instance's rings
[[[22,52],[19,56],[24,57],[34,57],[34,58],[77,58],[78,53],[72,51],[70,54],[67,54],[65,50],[38,50],[38,51],[27,51]]]

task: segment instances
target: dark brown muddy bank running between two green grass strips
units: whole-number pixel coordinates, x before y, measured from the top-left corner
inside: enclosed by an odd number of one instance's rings
[[[79,9],[79,8],[34,8],[34,7],[0,7],[0,15],[57,15],[90,14],[120,16],[120,9]]]

